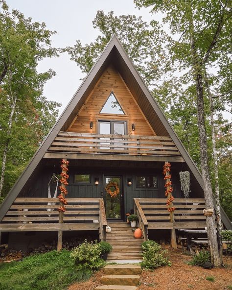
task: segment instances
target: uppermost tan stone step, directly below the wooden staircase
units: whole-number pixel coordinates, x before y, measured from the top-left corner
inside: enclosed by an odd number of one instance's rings
[[[107,265],[104,267],[105,275],[139,275],[141,267],[139,265]]]

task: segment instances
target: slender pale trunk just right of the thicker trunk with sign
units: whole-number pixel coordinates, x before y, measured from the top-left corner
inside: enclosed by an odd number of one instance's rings
[[[219,197],[219,178],[218,178],[218,163],[217,163],[217,150],[216,150],[216,138],[215,138],[215,127],[214,127],[214,108],[213,108],[213,99],[212,94],[209,90],[209,83],[207,78],[207,73],[205,72],[205,82],[206,88],[208,90],[209,95],[209,104],[210,104],[210,124],[211,124],[211,132],[212,132],[212,152],[213,152],[213,169],[214,169],[214,180],[215,180],[215,200],[216,200],[216,219],[217,219],[217,237],[218,237],[218,247],[221,263],[223,263],[222,259],[222,221],[221,221],[221,209],[220,209],[220,197]]]

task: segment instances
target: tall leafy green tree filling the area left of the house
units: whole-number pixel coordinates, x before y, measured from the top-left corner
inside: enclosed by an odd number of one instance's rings
[[[37,72],[38,61],[58,55],[50,42],[55,32],[0,3],[0,195],[5,195],[53,125],[60,104],[43,96],[55,73]]]

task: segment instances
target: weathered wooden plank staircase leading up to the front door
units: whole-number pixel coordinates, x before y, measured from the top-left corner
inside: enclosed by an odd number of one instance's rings
[[[134,238],[132,227],[126,222],[110,222],[111,233],[106,233],[106,242],[113,250],[108,254],[107,260],[140,260],[141,243],[143,239]]]

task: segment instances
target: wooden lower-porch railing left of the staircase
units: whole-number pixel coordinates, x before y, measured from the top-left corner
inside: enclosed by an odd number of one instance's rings
[[[0,222],[0,231],[98,230],[105,226],[101,198],[67,201],[64,222],[59,223],[58,198],[16,198]]]

